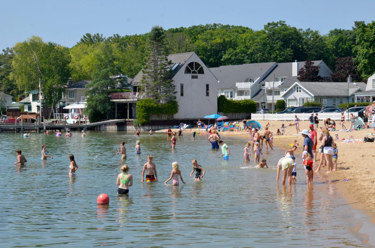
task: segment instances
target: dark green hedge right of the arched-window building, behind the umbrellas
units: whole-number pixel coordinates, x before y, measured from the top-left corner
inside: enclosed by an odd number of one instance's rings
[[[253,100],[228,100],[225,96],[217,99],[217,111],[224,113],[253,113],[257,104]]]

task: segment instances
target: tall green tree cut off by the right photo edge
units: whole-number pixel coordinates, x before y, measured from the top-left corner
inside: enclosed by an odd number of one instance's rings
[[[375,72],[375,21],[358,23],[356,37],[357,69],[362,78],[367,79]]]

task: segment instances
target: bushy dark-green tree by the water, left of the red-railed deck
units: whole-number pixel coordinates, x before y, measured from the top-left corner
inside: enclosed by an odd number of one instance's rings
[[[120,87],[127,83],[124,78],[120,78],[121,81],[110,78],[110,76],[121,74],[121,63],[114,55],[113,48],[109,43],[102,43],[95,56],[93,81],[86,85],[87,91],[85,92],[88,96],[85,113],[89,115],[91,122],[110,117],[113,112],[110,90],[116,88],[118,82]]]

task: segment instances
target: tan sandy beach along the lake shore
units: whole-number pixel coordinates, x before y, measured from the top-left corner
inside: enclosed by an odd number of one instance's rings
[[[240,121],[241,122],[241,121]],[[295,126],[288,126],[292,121],[259,121],[262,127],[265,127],[267,123],[270,123],[269,130],[276,134],[278,128],[284,123],[285,134],[281,136],[275,136],[273,139],[273,145],[278,146],[281,149],[288,149],[286,145],[293,143],[297,140],[300,144],[296,151],[296,154],[302,154],[303,137],[301,135],[295,135],[297,133]],[[309,121],[300,122],[300,130],[309,129]],[[338,122],[336,124],[339,124]],[[241,123],[242,125],[242,123]],[[320,121],[319,127],[323,126],[323,121]],[[342,143],[341,139],[348,139],[348,136],[353,136],[354,139],[363,139],[366,137],[366,133],[375,133],[373,128],[359,131],[339,131],[341,125],[336,125],[337,131],[331,132],[332,136],[335,137],[335,133],[338,133],[339,140],[335,140],[338,146],[338,170],[331,174],[326,174],[326,167],[322,167],[320,172],[316,172],[322,178],[328,180],[338,180],[337,187],[341,195],[347,200],[348,203],[353,203],[353,207],[366,211],[371,217],[372,221],[375,221],[375,171],[372,169],[372,162],[375,154],[372,149],[375,147],[375,143],[372,142],[361,142],[361,143]],[[346,123],[346,127],[350,128],[350,122]],[[160,130],[166,132],[166,130]],[[176,134],[178,129],[173,129]],[[261,131],[260,133],[263,133]],[[184,130],[183,135],[190,135],[189,130]],[[225,131],[220,132],[222,139],[225,136],[238,136],[243,137],[245,140],[249,139],[249,134],[244,131]],[[372,137],[371,135],[369,137]],[[263,149],[266,149],[265,144]],[[314,164],[315,166],[315,164]],[[315,167],[316,168],[316,167]],[[315,174],[315,175],[317,175]],[[351,179],[348,182],[344,182],[344,179]]]

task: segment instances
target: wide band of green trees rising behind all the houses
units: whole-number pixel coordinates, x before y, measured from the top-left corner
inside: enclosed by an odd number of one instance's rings
[[[51,106],[69,78],[92,80],[95,75],[103,78],[103,73],[133,78],[140,70],[149,69],[150,34],[103,37],[87,33],[72,48],[30,37],[2,50],[0,91],[23,95],[38,88],[40,80]],[[164,55],[195,51],[208,67],[323,60],[334,72],[333,81],[345,81],[348,75],[366,80],[375,72],[375,21],[356,21],[351,29],[333,29],[324,35],[310,28],[291,27],[285,21],[269,22],[262,30],[214,23],[169,28],[163,39]],[[108,61],[104,61],[106,56]],[[112,69],[102,71],[106,66]],[[152,93],[156,91],[154,88]]]

